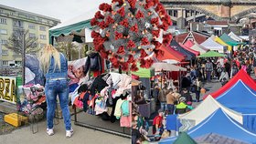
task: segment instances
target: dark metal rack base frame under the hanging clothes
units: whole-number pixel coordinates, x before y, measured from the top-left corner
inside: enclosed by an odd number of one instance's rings
[[[99,130],[99,131],[106,132],[106,133],[116,135],[116,136],[120,136],[120,137],[123,137],[123,138],[128,138],[128,139],[132,138],[131,134],[126,134],[124,132],[124,127],[123,127],[123,132],[119,132],[119,131],[115,131],[115,130],[112,130],[112,129],[104,129],[104,128],[101,128],[101,127],[93,126],[93,125],[87,124],[85,122],[80,122],[80,121],[78,121],[76,106],[73,106],[73,109],[74,109],[74,118],[75,118],[74,124],[77,125],[77,126],[84,127],[84,128],[89,128],[89,129],[94,129],[94,130]]]

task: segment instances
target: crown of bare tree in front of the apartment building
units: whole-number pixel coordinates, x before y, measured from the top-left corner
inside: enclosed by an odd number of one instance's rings
[[[35,54],[40,49],[37,47],[37,36],[30,36],[28,30],[16,29],[12,36],[8,38],[6,48],[13,50],[16,53],[23,53],[23,36],[25,36],[25,54]]]

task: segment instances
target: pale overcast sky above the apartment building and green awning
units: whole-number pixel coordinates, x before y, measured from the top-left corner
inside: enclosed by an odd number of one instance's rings
[[[0,0],[1,5],[48,15],[60,19],[61,22],[85,14],[103,2],[106,0]]]

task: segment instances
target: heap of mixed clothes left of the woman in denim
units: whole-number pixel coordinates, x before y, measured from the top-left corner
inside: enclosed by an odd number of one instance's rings
[[[36,120],[44,118],[47,108],[44,87],[25,85],[18,87],[17,110]],[[31,120],[31,119],[30,119]],[[35,120],[35,119],[33,119]]]

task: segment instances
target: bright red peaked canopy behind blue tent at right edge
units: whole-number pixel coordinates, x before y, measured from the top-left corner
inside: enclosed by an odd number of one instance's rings
[[[245,83],[248,87],[251,87],[253,90],[256,90],[256,82],[244,71],[240,70],[235,77],[232,77],[227,84],[225,84],[223,87],[220,87],[218,91],[213,92],[209,95],[211,95],[213,98],[218,98],[221,94],[223,94],[225,91],[227,91],[230,87],[232,87],[236,82],[241,80],[243,83]],[[204,98],[207,98],[207,96],[204,96]]]

